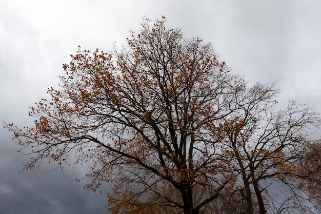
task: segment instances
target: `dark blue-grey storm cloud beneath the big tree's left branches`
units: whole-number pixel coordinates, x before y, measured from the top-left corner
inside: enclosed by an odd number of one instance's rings
[[[0,213],[107,213],[106,194],[88,194],[83,190],[85,183],[75,181],[76,176],[81,177],[79,166],[68,168],[65,176],[60,170],[45,172],[54,167],[48,164],[21,172],[27,157],[16,154],[17,148],[9,146],[12,142],[6,135],[2,130]]]

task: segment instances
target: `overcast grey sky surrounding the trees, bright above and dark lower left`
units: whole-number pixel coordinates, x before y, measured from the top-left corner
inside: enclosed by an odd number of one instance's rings
[[[321,111],[321,1],[0,0],[0,119],[32,126],[28,107],[57,86],[78,45],[110,50],[145,15],[164,15],[186,37],[211,42],[250,83],[276,82],[280,108],[296,99]],[[1,214],[108,213],[107,186],[102,196],[88,194],[75,181],[86,167],[67,167],[65,176],[49,164],[19,173],[29,157],[10,136],[0,129]]]

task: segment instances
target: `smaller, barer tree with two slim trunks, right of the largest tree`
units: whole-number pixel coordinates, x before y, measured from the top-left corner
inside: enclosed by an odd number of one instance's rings
[[[275,182],[279,186],[280,183],[288,186],[290,192],[285,202],[279,207],[272,207],[273,210],[282,210],[283,213],[285,209],[306,209],[305,204],[300,203],[303,198],[297,190],[299,179],[308,177],[302,175],[296,163],[305,159],[302,154],[310,143],[308,130],[319,126],[319,114],[295,101],[290,101],[285,110],[275,112],[276,101],[269,101],[271,95],[254,86],[238,99],[239,109],[233,119],[226,118],[217,127],[225,151],[235,163],[233,167],[240,172],[247,213],[255,213],[253,197],[257,201],[258,213],[267,213],[267,206],[271,204],[265,199],[273,195],[269,186]]]

